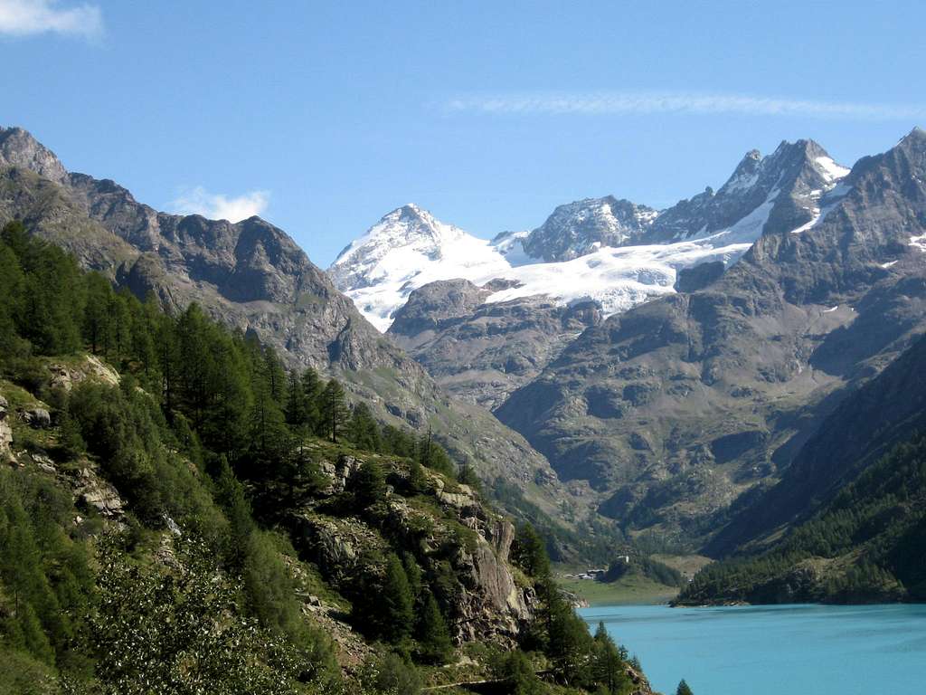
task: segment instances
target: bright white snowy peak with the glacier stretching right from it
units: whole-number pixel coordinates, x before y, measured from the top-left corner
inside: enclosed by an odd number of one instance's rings
[[[675,244],[602,246],[561,262],[530,261],[520,251],[523,235],[479,239],[436,221],[415,206],[398,208],[348,246],[329,274],[357,309],[383,332],[412,290],[439,280],[464,279],[496,289],[485,302],[545,295],[558,304],[593,300],[606,315],[673,292],[680,268],[738,258],[749,243],[717,243],[708,237]],[[396,240],[400,243],[395,244]]]

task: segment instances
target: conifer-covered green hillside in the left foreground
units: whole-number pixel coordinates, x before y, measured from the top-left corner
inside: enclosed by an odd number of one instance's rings
[[[0,691],[406,695],[463,655],[521,695],[647,688],[527,524],[516,643],[461,638],[454,562],[480,539],[440,502],[494,523],[466,461],[195,305],[115,292],[19,222],[0,235],[0,377]],[[352,467],[342,486],[326,461]],[[314,562],[322,521],[366,534],[353,572]],[[362,637],[352,661],[331,615]]]

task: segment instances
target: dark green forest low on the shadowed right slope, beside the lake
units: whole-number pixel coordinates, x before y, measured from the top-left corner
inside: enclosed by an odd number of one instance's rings
[[[680,601],[926,600],[926,436],[900,443],[770,548],[707,565]]]

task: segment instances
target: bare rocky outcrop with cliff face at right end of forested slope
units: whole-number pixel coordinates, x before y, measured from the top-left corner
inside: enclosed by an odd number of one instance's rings
[[[321,461],[330,481],[319,499],[289,520],[294,544],[314,562],[322,576],[345,596],[369,586],[382,574],[389,551],[408,552],[426,578],[443,573],[455,577],[457,588],[445,611],[458,643],[492,639],[512,644],[532,616],[532,588],[515,582],[509,553],[515,529],[489,510],[468,486],[451,486],[440,474],[425,469],[426,503],[412,503],[396,490],[405,489],[409,471],[402,461],[381,461],[394,486],[368,512],[335,513],[326,500],[350,494],[353,474],[362,465],[342,455]]]

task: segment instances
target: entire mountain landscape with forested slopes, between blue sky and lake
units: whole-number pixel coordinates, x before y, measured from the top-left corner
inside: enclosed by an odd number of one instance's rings
[[[326,272],[8,128],[0,228],[0,690],[648,695],[565,567],[926,599],[920,129]]]

